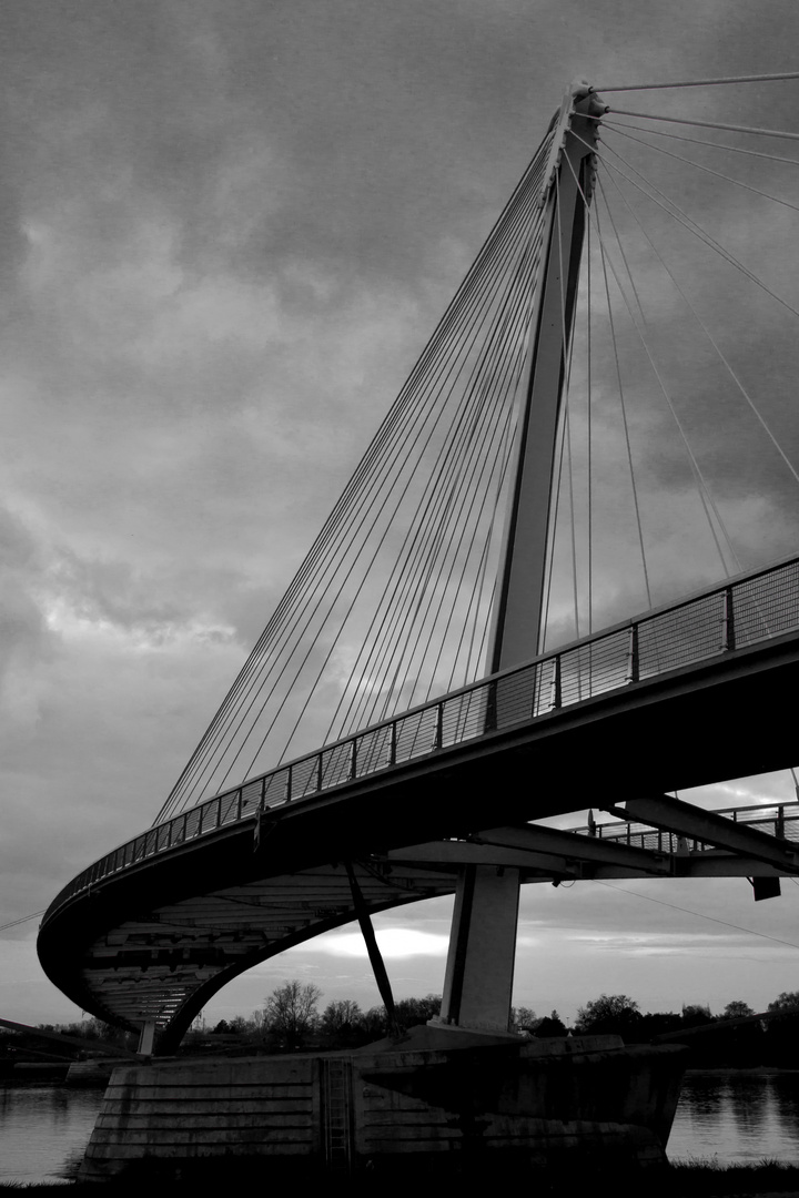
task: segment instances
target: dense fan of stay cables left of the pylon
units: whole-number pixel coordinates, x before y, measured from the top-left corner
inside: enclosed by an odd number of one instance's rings
[[[551,138],[156,822],[483,672]]]

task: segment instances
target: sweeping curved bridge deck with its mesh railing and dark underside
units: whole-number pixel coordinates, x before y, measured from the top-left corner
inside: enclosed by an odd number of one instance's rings
[[[525,881],[685,873],[685,852],[665,846],[662,829],[653,846],[528,821],[789,766],[798,680],[791,559],[543,654],[151,828],[61,890],[42,924],[42,964],[84,1009],[129,1025],[156,1018],[177,1036],[226,980],[353,918],[346,861],[371,910],[452,891],[465,859],[521,864]],[[783,845],[793,819],[783,812],[775,824]],[[716,872],[794,871],[791,853],[758,857],[755,843],[750,859],[749,841],[730,851],[694,840],[694,872],[701,860]]]

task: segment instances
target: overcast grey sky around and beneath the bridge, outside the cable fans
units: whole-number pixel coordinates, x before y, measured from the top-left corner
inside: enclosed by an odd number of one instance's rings
[[[46,908],[151,823],[569,80],[789,71],[797,44],[792,0],[4,5],[0,922]],[[733,120],[792,127],[795,90],[786,102],[769,86],[738,90]],[[688,110],[643,95],[619,105]],[[718,91],[696,103],[727,111]],[[733,243],[759,249],[799,303],[794,214],[753,225],[743,200],[725,211]],[[727,302],[713,272],[706,286]],[[732,335],[762,374],[761,325],[785,316],[758,303],[761,323]],[[789,375],[795,358],[768,363]],[[795,444],[782,386],[776,418]],[[795,496],[698,409],[744,564],[791,552]],[[644,405],[656,599],[707,581],[658,429]],[[609,613],[646,606],[627,563]],[[589,785],[591,766],[564,772],[575,810]],[[694,795],[794,797],[789,774]],[[376,921],[399,997],[441,990],[450,908]],[[745,879],[531,887],[515,1002],[567,1017],[601,992],[761,1010],[799,988],[797,916],[792,881],[757,906]],[[0,933],[1,1014],[78,1017],[35,936],[36,921]],[[345,930],[258,967],[207,1016],[249,1014],[292,976],[377,1002]]]

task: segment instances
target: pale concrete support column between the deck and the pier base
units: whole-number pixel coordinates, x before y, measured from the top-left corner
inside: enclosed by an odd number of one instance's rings
[[[519,921],[519,870],[466,865],[458,878],[437,1023],[507,1033]]]

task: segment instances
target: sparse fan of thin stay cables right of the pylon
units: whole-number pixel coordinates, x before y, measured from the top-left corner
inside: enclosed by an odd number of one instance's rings
[[[777,83],[789,125],[798,72],[595,89],[547,647],[795,549],[799,128],[758,120]],[[616,108],[637,90],[665,107]]]

